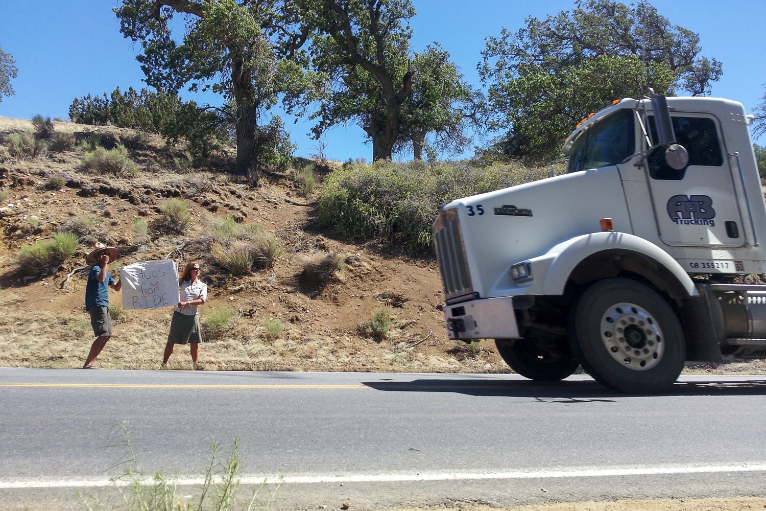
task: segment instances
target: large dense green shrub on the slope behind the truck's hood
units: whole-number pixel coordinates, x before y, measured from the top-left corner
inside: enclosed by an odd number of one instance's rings
[[[348,237],[396,242],[415,253],[431,252],[431,224],[440,204],[545,175],[545,169],[530,170],[519,164],[476,168],[467,162],[349,162],[322,182],[318,220],[322,227]]]

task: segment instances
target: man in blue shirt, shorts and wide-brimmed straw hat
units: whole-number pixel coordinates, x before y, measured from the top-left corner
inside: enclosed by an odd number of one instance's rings
[[[93,264],[88,273],[88,283],[85,287],[85,310],[90,313],[90,326],[93,327],[93,334],[96,340],[93,346],[90,346],[90,353],[85,360],[83,369],[100,369],[93,362],[101,352],[106,342],[112,336],[112,319],[109,315],[109,288],[119,291],[123,288],[123,280],[114,279],[106,270],[106,264],[109,264],[110,254],[104,251],[96,257],[98,264]]]

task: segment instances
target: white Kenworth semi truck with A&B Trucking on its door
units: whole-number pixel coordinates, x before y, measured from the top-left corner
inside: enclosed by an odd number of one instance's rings
[[[615,101],[566,139],[564,175],[442,205],[450,339],[495,339],[527,378],[578,365],[631,393],[685,361],[766,358],[766,206],[741,103]],[[738,278],[739,277],[739,278]]]

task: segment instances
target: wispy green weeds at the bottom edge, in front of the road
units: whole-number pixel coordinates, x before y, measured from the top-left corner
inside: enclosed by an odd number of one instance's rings
[[[263,490],[267,481],[261,483],[250,498],[247,506],[237,506],[237,492],[240,480],[240,458],[237,456],[239,440],[234,438],[234,447],[228,461],[221,463],[218,460],[218,444],[212,442],[212,454],[210,463],[205,468],[203,483],[195,491],[197,495],[186,498],[178,495],[178,483],[165,473],[155,472],[151,477],[145,476],[138,468],[138,459],[130,441],[129,431],[125,424],[122,426],[122,434],[129,451],[129,466],[120,477],[110,479],[114,489],[119,493],[119,501],[116,503],[104,503],[96,494],[83,495],[77,490],[77,496],[87,507],[88,511],[234,511],[245,509],[251,511],[256,506],[256,499],[260,490]],[[271,493],[267,503],[263,505],[268,509],[274,494],[279,490],[281,483]]]

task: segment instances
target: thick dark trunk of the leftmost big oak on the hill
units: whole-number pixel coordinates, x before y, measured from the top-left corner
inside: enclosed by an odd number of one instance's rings
[[[258,173],[255,161],[255,130],[257,128],[257,109],[253,98],[253,85],[250,73],[241,62],[231,66],[231,84],[234,87],[234,102],[237,105],[237,160],[234,173],[250,175],[257,181]]]

